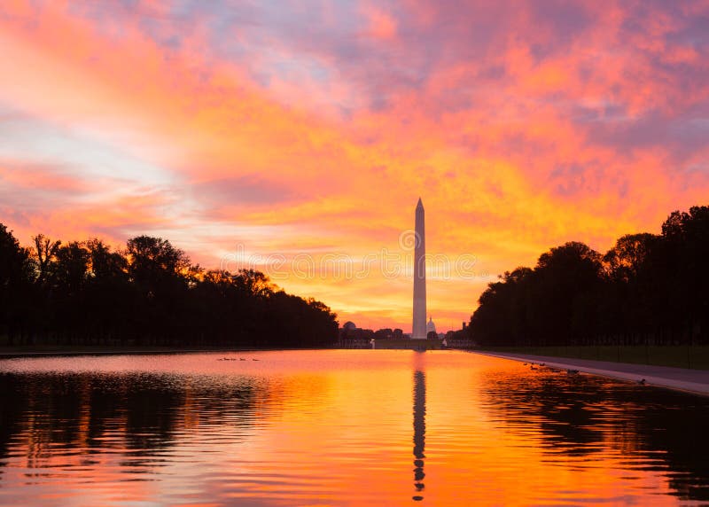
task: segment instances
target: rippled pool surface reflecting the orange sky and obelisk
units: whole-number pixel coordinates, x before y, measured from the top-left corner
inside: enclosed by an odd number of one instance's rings
[[[704,397],[463,352],[12,359],[0,504],[701,504],[707,428]]]

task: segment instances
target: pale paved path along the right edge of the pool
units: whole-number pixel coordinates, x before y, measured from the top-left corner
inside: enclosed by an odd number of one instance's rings
[[[591,361],[573,357],[551,357],[549,355],[508,354],[505,352],[479,352],[476,354],[493,355],[503,359],[524,361],[526,363],[544,363],[551,368],[579,370],[604,377],[621,378],[637,382],[645,379],[648,386],[668,387],[679,391],[709,395],[709,370],[688,370],[668,366],[649,364],[611,363],[609,361]]]

